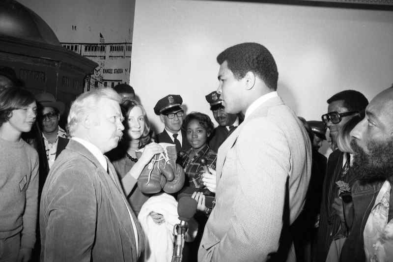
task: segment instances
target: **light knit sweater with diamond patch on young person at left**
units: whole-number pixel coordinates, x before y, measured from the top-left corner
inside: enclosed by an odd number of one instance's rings
[[[0,138],[0,239],[22,231],[21,247],[33,248],[38,210],[38,154],[22,139]]]

